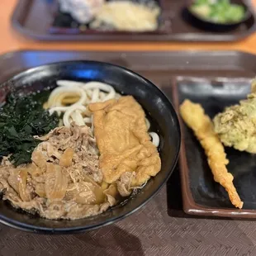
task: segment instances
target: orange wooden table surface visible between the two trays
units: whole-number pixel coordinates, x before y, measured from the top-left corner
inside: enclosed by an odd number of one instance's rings
[[[181,42],[40,42],[21,36],[12,29],[10,18],[18,0],[0,1],[0,54],[12,50],[244,50],[256,54],[256,33],[234,43]],[[171,1],[171,0],[170,0]],[[256,0],[252,0],[256,6]]]

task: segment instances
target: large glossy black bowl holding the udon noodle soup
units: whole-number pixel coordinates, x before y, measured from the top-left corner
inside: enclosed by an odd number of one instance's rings
[[[15,89],[17,92],[33,92],[45,87],[55,87],[58,79],[75,81],[97,80],[111,84],[116,91],[130,94],[140,102],[151,119],[154,129],[160,136],[159,153],[162,159],[162,169],[151,178],[140,192],[130,197],[122,204],[115,206],[98,216],[81,220],[45,220],[22,211],[16,211],[7,201],[0,201],[0,222],[20,230],[38,233],[74,233],[92,230],[102,225],[111,224],[116,220],[129,216],[144,206],[160,187],[164,185],[175,167],[181,143],[178,117],[172,104],[164,93],[153,83],[133,73],[112,64],[94,61],[69,61],[40,66],[18,74],[0,86],[0,102],[7,93]],[[163,203],[166,203],[163,201]]]

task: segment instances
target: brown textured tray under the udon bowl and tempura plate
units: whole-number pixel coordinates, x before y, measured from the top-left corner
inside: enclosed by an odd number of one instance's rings
[[[138,58],[140,57],[140,58]],[[0,56],[0,83],[24,69],[73,59],[119,64],[145,75],[172,95],[175,76],[252,78],[256,56],[217,52],[17,51]],[[256,222],[204,220],[183,212],[179,170],[140,211],[113,225],[78,235],[36,235],[0,224],[0,255],[254,255]],[[214,218],[214,220],[212,220]]]

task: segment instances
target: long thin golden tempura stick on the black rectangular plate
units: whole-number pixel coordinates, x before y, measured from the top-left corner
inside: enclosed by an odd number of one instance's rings
[[[220,183],[222,187],[225,187],[232,204],[241,209],[244,203],[236,192],[233,184],[234,177],[231,173],[228,173],[226,168],[229,160],[226,159],[224,146],[213,129],[210,117],[206,116],[200,104],[195,104],[189,100],[185,100],[180,106],[180,114],[187,126],[194,131],[202,148],[205,149],[214,180],[216,183]]]

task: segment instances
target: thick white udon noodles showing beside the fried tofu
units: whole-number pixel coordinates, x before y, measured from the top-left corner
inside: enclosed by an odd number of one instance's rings
[[[56,82],[59,87],[55,88],[45,103],[45,109],[53,114],[58,112],[59,116],[63,114],[62,122],[64,126],[70,127],[72,122],[78,126],[92,126],[92,113],[88,110],[88,104],[92,102],[106,102],[110,99],[118,99],[121,94],[117,93],[111,85],[100,82],[74,82],[68,80],[59,80]],[[148,130],[150,122],[145,119]],[[92,126],[93,130],[93,126]],[[155,132],[149,132],[153,144],[159,146],[159,135]]]

